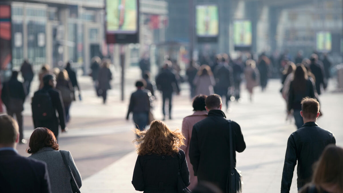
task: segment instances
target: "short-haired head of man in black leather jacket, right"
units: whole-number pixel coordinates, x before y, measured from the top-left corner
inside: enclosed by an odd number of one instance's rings
[[[300,114],[304,120],[315,121],[319,116],[319,102],[309,97],[303,98]]]

